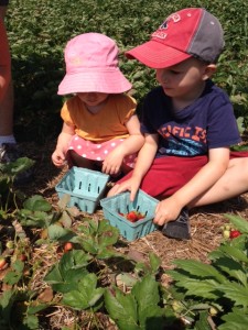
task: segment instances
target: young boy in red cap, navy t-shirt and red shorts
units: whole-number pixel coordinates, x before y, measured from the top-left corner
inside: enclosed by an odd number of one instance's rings
[[[171,14],[151,40],[127,52],[157,72],[160,87],[142,111],[145,143],[134,169],[108,196],[138,188],[159,198],[154,222],[190,239],[187,209],[248,190],[248,153],[230,153],[240,136],[231,103],[211,77],[224,47],[219,21],[204,9]]]

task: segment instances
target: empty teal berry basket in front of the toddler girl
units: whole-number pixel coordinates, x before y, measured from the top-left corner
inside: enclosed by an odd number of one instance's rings
[[[98,170],[72,167],[55,186],[58,198],[67,194],[71,196],[68,206],[76,206],[79,210],[94,213],[105,191],[109,175]]]

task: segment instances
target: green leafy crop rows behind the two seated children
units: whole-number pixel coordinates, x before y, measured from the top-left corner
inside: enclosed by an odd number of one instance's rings
[[[99,32],[116,40],[120,67],[133,84],[139,102],[154,86],[153,70],[123,52],[149,40],[170,13],[204,7],[218,16],[226,48],[215,81],[230,96],[237,117],[248,122],[248,2],[242,0],[11,0],[7,16],[15,89],[15,133],[20,140],[45,142],[61,130],[63,98],[57,86],[64,76],[63,50],[73,36]]]

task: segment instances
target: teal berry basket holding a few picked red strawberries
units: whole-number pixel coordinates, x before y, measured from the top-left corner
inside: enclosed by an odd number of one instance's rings
[[[145,237],[158,229],[153,223],[154,211],[159,200],[139,189],[133,202],[130,201],[130,193],[121,193],[114,197],[100,200],[105,219],[109,220],[112,227],[119,229],[120,234],[128,241],[134,241]],[[132,210],[144,215],[143,219],[130,222],[119,213],[128,213]]]

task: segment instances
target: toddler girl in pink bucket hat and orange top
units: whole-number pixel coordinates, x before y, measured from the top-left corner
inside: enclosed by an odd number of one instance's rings
[[[64,120],[55,166],[99,168],[109,175],[129,172],[144,143],[131,84],[118,67],[118,47],[108,36],[85,33],[65,47],[66,75],[58,95],[74,94],[63,106]]]

